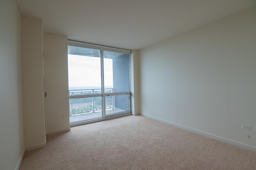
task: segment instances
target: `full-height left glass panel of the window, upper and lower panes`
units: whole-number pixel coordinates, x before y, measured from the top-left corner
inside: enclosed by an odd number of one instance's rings
[[[68,45],[70,123],[103,117],[101,79],[100,50]]]

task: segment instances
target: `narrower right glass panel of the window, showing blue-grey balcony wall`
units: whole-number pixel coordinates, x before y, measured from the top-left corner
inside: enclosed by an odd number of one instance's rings
[[[130,110],[130,70],[129,54],[103,51],[104,56],[104,87],[111,80],[113,93],[105,93],[106,101],[112,101],[113,109],[106,110],[106,115]]]

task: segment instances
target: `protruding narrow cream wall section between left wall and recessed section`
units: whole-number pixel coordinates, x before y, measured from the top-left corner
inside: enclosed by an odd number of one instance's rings
[[[22,17],[22,98],[26,150],[46,146],[42,20]]]

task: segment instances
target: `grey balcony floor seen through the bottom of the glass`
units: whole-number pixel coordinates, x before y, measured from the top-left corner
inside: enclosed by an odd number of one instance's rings
[[[119,112],[124,112],[125,110],[122,109],[106,109],[107,115],[112,114],[112,113],[119,113]],[[101,118],[102,117],[102,111],[96,111],[94,113],[82,113],[78,115],[72,115],[69,117],[69,122],[77,122],[77,121],[85,121],[89,119],[96,119],[96,118]]]

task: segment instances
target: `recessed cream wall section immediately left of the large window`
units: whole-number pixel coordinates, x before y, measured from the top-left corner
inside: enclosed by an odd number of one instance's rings
[[[70,130],[66,36],[44,33],[44,91],[46,134]]]

